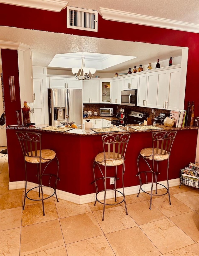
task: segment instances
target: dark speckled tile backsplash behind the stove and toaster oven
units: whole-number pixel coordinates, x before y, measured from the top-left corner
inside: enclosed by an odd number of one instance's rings
[[[83,110],[92,111],[93,116],[94,116],[94,112],[97,112],[99,115],[100,108],[113,108],[113,115],[119,112],[119,109],[125,109],[125,112],[138,111],[142,113],[148,113],[151,119],[154,118],[154,114],[152,113],[151,108],[129,107],[129,106],[115,105],[115,104],[83,104],[83,105],[84,105]],[[166,110],[166,109],[154,109],[154,111],[155,111],[155,117],[159,116],[160,113],[165,113],[165,114],[170,113],[170,110]]]

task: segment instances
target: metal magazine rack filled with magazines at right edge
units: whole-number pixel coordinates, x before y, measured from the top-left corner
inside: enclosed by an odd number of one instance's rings
[[[187,185],[199,188],[199,165],[190,163],[189,167],[181,169],[180,186]]]

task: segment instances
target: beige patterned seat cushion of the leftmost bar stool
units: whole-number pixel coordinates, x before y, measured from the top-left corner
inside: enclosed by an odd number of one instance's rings
[[[30,155],[30,152],[28,152]],[[27,156],[25,157],[25,161],[29,163],[39,163],[39,157],[35,157],[35,151],[32,152],[34,157]],[[27,155],[27,154],[26,154]],[[37,156],[39,156],[39,150],[37,150]],[[49,162],[54,159],[56,156],[55,152],[51,149],[42,149],[41,150],[41,162]],[[44,158],[44,159],[43,159]]]

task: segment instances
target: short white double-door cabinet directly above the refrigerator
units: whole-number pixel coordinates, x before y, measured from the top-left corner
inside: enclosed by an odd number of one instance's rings
[[[82,89],[82,80],[67,76],[49,76],[50,88]]]

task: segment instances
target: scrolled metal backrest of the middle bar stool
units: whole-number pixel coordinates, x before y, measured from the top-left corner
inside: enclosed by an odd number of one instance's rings
[[[112,133],[102,136],[104,159],[123,159],[125,157],[130,133]],[[105,154],[105,152],[108,152]]]

